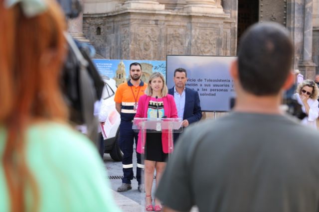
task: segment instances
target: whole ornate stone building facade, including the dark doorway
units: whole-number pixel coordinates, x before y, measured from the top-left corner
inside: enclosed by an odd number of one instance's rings
[[[294,68],[319,72],[319,0],[83,0],[78,28],[102,58],[165,60],[174,55],[234,56],[258,21],[286,26]],[[74,31],[74,29],[73,29]],[[76,31],[76,30],[75,30]],[[77,34],[78,35],[78,34]]]

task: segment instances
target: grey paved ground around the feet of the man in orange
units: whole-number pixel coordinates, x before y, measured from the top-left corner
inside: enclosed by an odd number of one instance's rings
[[[134,159],[135,158],[135,159]],[[117,192],[117,188],[122,184],[120,177],[123,176],[122,162],[115,162],[111,159],[109,154],[104,154],[104,163],[110,179],[110,185],[112,189],[112,194],[115,199],[116,204],[122,209],[123,212],[144,212],[144,207],[142,207],[142,200],[145,198],[145,193],[140,193],[138,188],[138,183],[136,179],[132,181],[132,190],[127,192]],[[133,165],[134,165],[134,175],[136,175],[136,156],[133,155]],[[117,179],[118,178],[118,179]],[[155,188],[155,181],[153,184]],[[152,196],[154,197],[155,189],[152,191]],[[197,208],[193,208],[191,212],[198,212]]]

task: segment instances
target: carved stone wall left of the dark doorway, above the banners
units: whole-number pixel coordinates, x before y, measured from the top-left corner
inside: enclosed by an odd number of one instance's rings
[[[165,9],[165,4],[143,0],[125,1],[109,13],[85,10],[88,14],[84,14],[83,32],[99,54],[111,59],[165,60],[166,54],[235,55],[236,18],[224,13],[220,2],[210,1],[207,8],[188,6],[187,11],[182,6],[182,10]],[[196,9],[206,9],[207,13]],[[101,33],[96,33],[97,29]]]

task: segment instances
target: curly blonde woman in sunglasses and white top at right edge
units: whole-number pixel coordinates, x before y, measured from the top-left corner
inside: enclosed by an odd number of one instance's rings
[[[312,80],[304,80],[298,84],[295,98],[302,106],[303,112],[306,113],[306,117],[302,120],[302,123],[317,129],[317,118],[319,115],[318,108],[318,96],[319,89],[317,84]]]

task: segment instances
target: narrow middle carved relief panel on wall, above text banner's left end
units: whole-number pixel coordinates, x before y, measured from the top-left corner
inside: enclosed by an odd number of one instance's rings
[[[185,29],[167,28],[167,54],[184,54]]]

